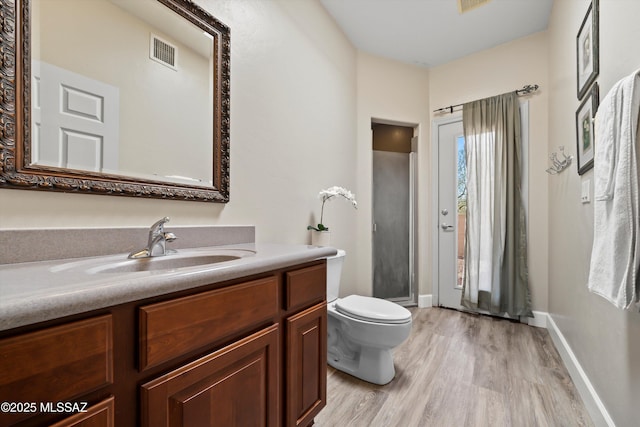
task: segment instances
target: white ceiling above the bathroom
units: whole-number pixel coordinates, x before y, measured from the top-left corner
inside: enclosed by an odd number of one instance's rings
[[[433,67],[547,28],[553,0],[320,0],[364,52]]]

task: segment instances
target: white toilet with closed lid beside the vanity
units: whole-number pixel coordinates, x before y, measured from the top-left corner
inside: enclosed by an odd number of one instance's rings
[[[411,332],[411,312],[380,298],[338,298],[346,253],[327,258],[327,362],[354,377],[387,384],[396,374],[392,349]]]

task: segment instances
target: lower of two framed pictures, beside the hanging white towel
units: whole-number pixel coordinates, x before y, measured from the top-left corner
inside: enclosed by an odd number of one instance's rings
[[[589,95],[576,111],[576,153],[578,153],[578,175],[593,168],[595,152],[594,118],[600,104],[600,88],[594,83]]]

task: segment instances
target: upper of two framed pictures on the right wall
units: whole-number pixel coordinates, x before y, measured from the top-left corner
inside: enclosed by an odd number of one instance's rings
[[[600,72],[599,0],[591,0],[576,37],[578,99],[582,99]]]

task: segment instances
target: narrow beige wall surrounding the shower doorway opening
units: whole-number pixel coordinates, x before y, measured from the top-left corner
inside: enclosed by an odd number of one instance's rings
[[[428,194],[429,187],[429,72],[424,68],[358,52],[358,108],[357,108],[357,176],[358,229],[357,258],[349,257],[346,265],[357,263],[357,282],[341,288],[343,293],[371,295],[373,292],[371,262],[372,226],[372,135],[371,121],[385,120],[395,124],[418,127],[418,193]],[[418,252],[429,259],[427,227],[424,212],[428,197],[418,200]],[[347,253],[347,256],[349,254]],[[355,258],[355,259],[354,259]],[[427,293],[429,263],[418,266],[419,293]]]

